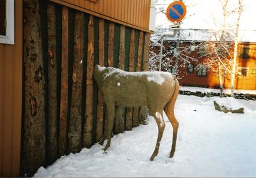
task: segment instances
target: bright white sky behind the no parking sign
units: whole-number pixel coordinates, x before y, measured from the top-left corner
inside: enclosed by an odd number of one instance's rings
[[[164,6],[164,9],[166,10],[168,4],[172,2],[173,0],[158,0],[157,4],[161,5],[157,5],[156,7],[159,8]],[[221,3],[219,0],[184,0],[183,2],[187,6],[187,15],[186,19],[182,21],[182,28],[212,29],[216,28],[216,26],[213,24],[213,19],[215,18],[221,20]],[[230,4],[232,4],[232,6],[235,6],[236,2],[237,0],[230,0]],[[255,18],[256,1],[244,0],[244,12],[241,15],[240,29],[256,30]],[[156,27],[160,25],[168,27],[171,24],[172,22],[168,21],[165,14],[157,13]]]

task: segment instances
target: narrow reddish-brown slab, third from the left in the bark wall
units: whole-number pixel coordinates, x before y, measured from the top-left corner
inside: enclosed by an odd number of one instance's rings
[[[58,156],[67,152],[68,116],[68,8],[62,8],[61,91]]]

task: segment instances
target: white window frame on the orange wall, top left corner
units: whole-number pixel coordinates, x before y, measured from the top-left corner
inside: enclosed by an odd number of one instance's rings
[[[14,0],[6,0],[6,33],[0,35],[0,43],[14,45]]]

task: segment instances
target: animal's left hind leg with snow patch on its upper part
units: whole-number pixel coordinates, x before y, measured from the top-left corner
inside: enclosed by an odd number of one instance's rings
[[[157,137],[157,141],[156,141],[156,147],[155,147],[155,150],[150,158],[150,161],[153,161],[154,158],[157,156],[158,151],[159,151],[160,142],[163,137],[163,132],[164,132],[164,128],[165,128],[165,123],[164,123],[164,119],[163,119],[163,110],[161,110],[161,112],[156,112],[154,114],[154,118],[155,118],[157,126],[158,126],[158,137]]]

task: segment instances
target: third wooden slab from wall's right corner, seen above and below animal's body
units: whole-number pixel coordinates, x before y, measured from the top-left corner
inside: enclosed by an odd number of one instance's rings
[[[129,51],[129,71],[134,71],[134,52],[135,52],[135,30],[131,30],[131,40],[130,40],[130,51]],[[133,109],[130,107],[126,108],[126,123],[125,130],[132,129],[132,113]]]

